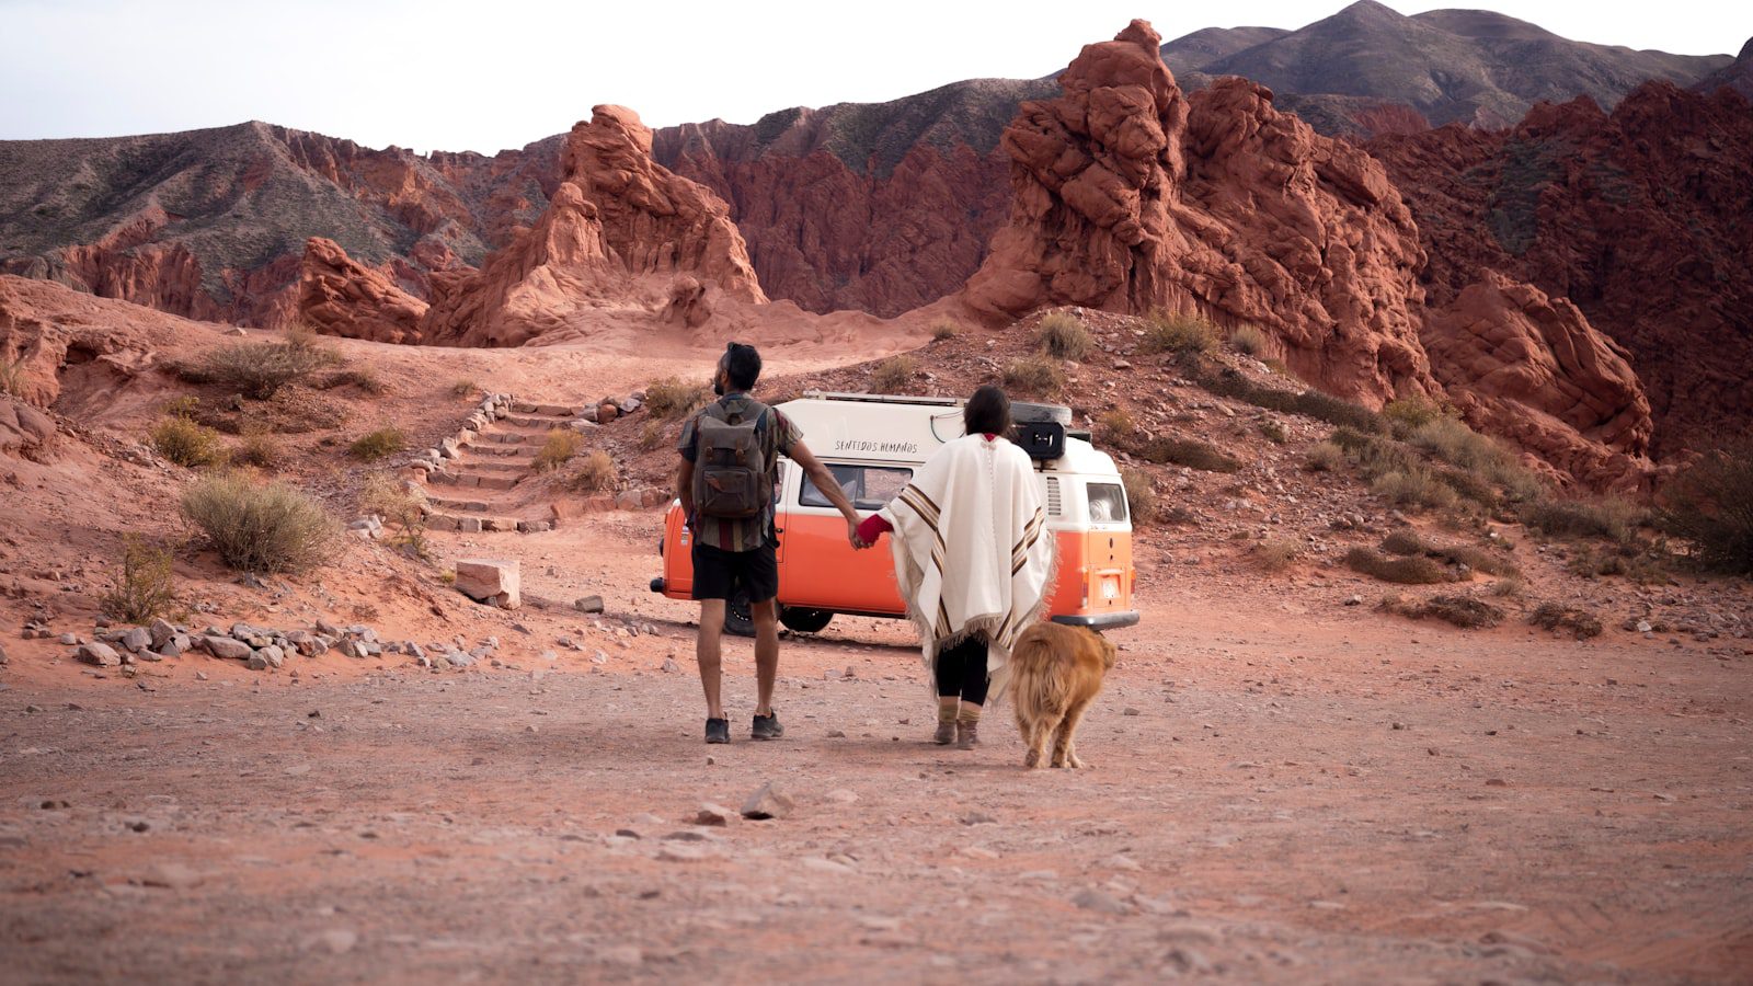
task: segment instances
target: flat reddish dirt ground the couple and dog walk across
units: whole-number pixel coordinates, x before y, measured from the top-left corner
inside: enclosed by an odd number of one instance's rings
[[[74,665],[0,691],[7,981],[1746,981],[1748,656],[1294,614],[1196,574],[1080,747],[1020,770],[922,740],[905,626],[784,653],[789,735],[699,742],[689,607],[650,516],[522,553],[526,591],[610,588],[617,637],[531,614],[508,667],[328,677]],[[512,637],[517,637],[515,633]],[[659,670],[675,656],[678,672]],[[14,661],[14,672],[18,670]],[[340,668],[340,670],[337,670]],[[850,668],[852,675],[847,677]],[[210,670],[210,681],[196,681]],[[789,818],[689,825],[766,781]]]

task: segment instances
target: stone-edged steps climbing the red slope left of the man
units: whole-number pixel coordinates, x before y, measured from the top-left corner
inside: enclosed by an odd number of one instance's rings
[[[517,516],[517,488],[536,475],[536,453],[554,428],[571,428],[577,407],[531,404],[494,395],[454,439],[415,460],[426,475],[426,526],[456,532],[543,532],[556,518]]]

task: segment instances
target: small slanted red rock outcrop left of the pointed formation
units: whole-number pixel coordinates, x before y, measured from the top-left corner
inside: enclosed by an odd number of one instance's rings
[[[335,240],[310,237],[298,279],[298,318],[323,335],[419,342],[426,302],[347,256]]]

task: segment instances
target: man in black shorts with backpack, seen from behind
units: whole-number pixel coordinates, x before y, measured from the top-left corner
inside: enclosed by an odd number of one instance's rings
[[[810,454],[796,425],[749,397],[759,379],[761,353],[738,342],[726,346],[712,379],[712,391],[719,400],[689,418],[677,442],[682,468],[677,472],[675,491],[687,526],[694,532],[694,598],[699,600],[694,656],[699,663],[699,684],[706,691],[706,742],[731,742],[731,723],[719,698],[720,642],[724,605],[738,588],[749,595],[756,625],[752,737],[768,740],[785,735],[773,712],[773,681],[778,677],[778,535],[773,530],[773,486],[778,481],[778,456],[798,463],[815,481],[847,518],[847,540],[857,544],[859,514],[840,482]],[[752,433],[745,430],[749,423],[754,425]],[[708,461],[701,461],[703,432],[708,433]],[[750,475],[752,482],[742,484],[749,461],[759,461],[759,475]]]

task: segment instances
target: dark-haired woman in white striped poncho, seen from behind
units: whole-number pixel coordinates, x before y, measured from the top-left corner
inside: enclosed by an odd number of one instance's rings
[[[1054,537],[1034,463],[1004,437],[1011,428],[1004,391],[976,389],[962,425],[964,437],[938,449],[859,525],[857,546],[892,533],[896,582],[938,686],[933,739],[973,749],[990,675],[1041,612]]]

